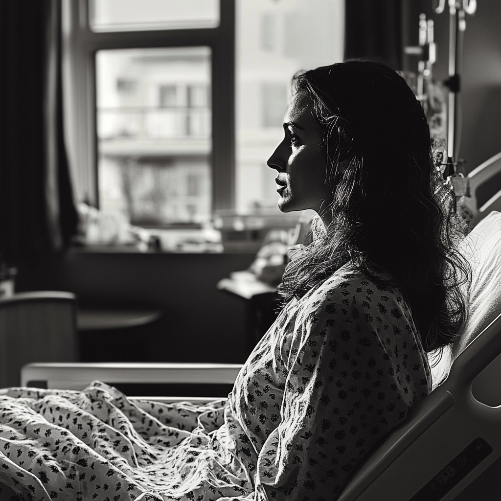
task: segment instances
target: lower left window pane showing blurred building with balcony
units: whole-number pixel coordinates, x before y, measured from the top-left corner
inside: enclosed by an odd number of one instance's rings
[[[96,55],[99,203],[132,224],[210,217],[210,49]]]

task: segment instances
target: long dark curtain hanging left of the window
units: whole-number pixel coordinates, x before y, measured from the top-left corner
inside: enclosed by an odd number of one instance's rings
[[[0,252],[15,265],[76,232],[63,139],[61,0],[0,0]]]

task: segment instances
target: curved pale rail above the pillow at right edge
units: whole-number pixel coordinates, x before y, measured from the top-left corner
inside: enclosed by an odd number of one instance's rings
[[[499,173],[501,173],[501,152],[483,162],[467,175],[469,196],[465,197],[462,203],[472,216],[473,226],[492,210],[501,211],[501,186],[495,195],[488,200],[478,200],[479,189],[481,190],[486,183],[491,183]],[[483,203],[480,205],[480,202]]]

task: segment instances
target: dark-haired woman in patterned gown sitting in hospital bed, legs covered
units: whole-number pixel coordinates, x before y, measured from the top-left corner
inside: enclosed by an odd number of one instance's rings
[[[6,390],[4,483],[36,499],[333,499],[426,397],[426,353],[464,321],[467,265],[419,103],[383,65],[317,68],[295,79],[284,132],[268,161],[279,207],[314,209],[319,231],[295,250],[284,309],[228,399]]]

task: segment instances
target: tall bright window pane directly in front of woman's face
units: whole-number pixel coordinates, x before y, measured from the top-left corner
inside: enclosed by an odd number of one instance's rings
[[[291,79],[343,60],[344,0],[236,0],[236,203],[277,210],[276,171]]]

